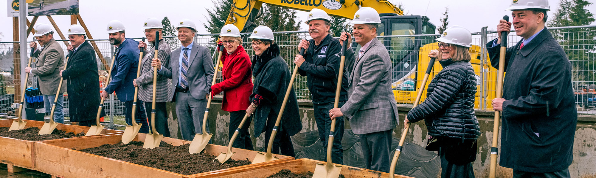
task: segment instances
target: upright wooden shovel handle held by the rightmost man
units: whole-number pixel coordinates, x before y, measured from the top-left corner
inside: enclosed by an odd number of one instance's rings
[[[503,16],[503,20],[509,21],[509,16]],[[496,96],[501,98],[503,93],[503,75],[505,72],[505,55],[507,54],[507,31],[501,32],[501,53],[499,54],[499,72],[496,75]],[[496,173],[496,157],[499,152],[499,120],[501,119],[501,112],[495,111],[495,123],[492,128],[492,147],[491,147],[491,167],[489,169],[489,177],[495,178]]]

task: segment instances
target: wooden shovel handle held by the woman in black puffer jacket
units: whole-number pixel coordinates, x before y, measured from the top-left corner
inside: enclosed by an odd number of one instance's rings
[[[429,80],[430,72],[433,71],[434,61],[435,61],[434,58],[430,58],[429,66],[427,66],[426,72],[424,72],[424,78],[422,79],[420,89],[418,89],[418,94],[416,96],[416,100],[414,100],[414,106],[412,106],[412,108],[418,106],[418,103],[420,103],[420,99],[422,98],[422,93],[424,91],[424,88],[426,87],[426,82],[427,82],[427,80]],[[406,116],[406,119],[408,119],[407,116]],[[405,141],[406,136],[408,135],[409,126],[410,126],[409,122],[405,124],[405,126],[403,128],[403,132],[402,132],[402,137],[399,139],[398,148],[396,148],[395,155],[393,155],[393,159],[391,160],[391,167],[389,168],[389,177],[390,178],[395,177],[395,166],[397,166],[398,160],[399,160],[399,155],[401,154],[401,152],[403,150],[403,142]]]

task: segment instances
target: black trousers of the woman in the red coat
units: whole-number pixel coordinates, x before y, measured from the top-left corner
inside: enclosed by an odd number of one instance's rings
[[[240,122],[242,122],[242,119],[244,119],[244,115],[246,115],[245,110],[229,112],[228,141],[232,139],[232,135],[234,135],[234,132],[236,132]],[[253,141],[250,139],[249,133],[250,120],[252,120],[252,117],[246,118],[246,121],[244,121],[244,125],[242,125],[242,128],[240,128],[238,136],[236,136],[236,140],[234,141],[234,144],[232,144],[232,147],[254,150]]]

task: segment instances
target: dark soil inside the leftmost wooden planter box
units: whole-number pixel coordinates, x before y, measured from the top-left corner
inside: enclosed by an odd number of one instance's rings
[[[0,136],[6,136],[10,138],[16,139],[24,139],[28,141],[44,141],[50,139],[61,139],[61,138],[72,138],[77,136],[85,136],[85,133],[80,132],[79,134],[75,134],[73,132],[61,131],[58,129],[54,129],[52,134],[48,135],[39,135],[39,128],[26,128],[20,129],[17,131],[8,131],[10,128],[0,128]]]

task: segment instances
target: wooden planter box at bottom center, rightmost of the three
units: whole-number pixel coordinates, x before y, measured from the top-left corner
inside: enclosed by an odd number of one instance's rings
[[[302,158],[299,160],[287,161],[284,163],[269,163],[265,166],[259,167],[247,167],[242,169],[228,170],[216,174],[199,175],[195,177],[207,178],[207,177],[218,177],[218,178],[265,178],[269,177],[283,169],[288,169],[293,173],[306,173],[311,171],[315,172],[316,163],[325,164],[326,162],[311,160]],[[359,167],[342,166],[343,176],[346,178],[381,178],[389,177],[389,173],[383,173],[380,171],[362,169]],[[405,178],[408,176],[395,175],[395,177]],[[410,177],[412,178],[412,177]]]

